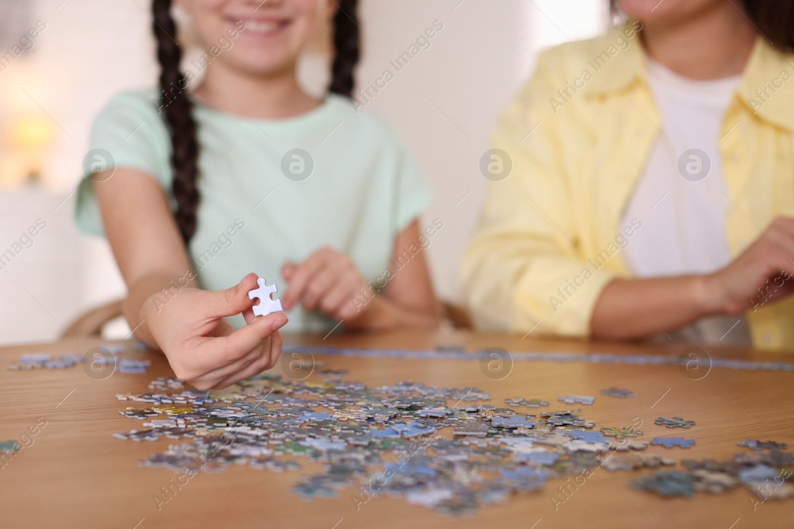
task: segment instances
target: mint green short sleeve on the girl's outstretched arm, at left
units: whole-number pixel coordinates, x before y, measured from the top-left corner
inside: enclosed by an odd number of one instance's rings
[[[155,101],[152,90],[122,92],[112,98],[91,127],[88,163],[95,159],[105,167],[142,171],[169,189],[171,139]],[[77,187],[75,221],[83,232],[104,236],[91,174],[83,174]]]

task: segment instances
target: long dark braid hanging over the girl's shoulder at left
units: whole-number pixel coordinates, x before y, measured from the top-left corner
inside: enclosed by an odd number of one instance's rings
[[[175,42],[176,25],[171,16],[171,0],[154,0],[154,34],[157,39],[157,59],[160,61],[160,89],[162,107],[172,141],[174,178],[172,193],[176,201],[176,224],[185,244],[196,231],[198,209],[198,140],[193,119],[193,104],[187,97],[187,81],[179,62],[182,50]]]

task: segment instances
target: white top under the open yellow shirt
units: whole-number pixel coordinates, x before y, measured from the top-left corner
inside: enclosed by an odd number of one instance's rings
[[[723,178],[719,128],[740,79],[695,81],[648,58],[650,90],[663,125],[620,224],[642,221],[623,254],[635,277],[707,274],[730,263],[725,220],[732,205]],[[744,316],[709,316],[667,335],[750,345]]]

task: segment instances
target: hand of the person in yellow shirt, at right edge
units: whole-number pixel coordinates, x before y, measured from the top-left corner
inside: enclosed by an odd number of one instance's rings
[[[732,263],[707,276],[719,312],[736,314],[794,292],[794,219],[777,217]]]

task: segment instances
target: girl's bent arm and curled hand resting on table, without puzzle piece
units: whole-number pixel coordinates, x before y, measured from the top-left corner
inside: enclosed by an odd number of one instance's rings
[[[414,221],[395,239],[392,262],[401,259],[402,268],[391,267],[391,278],[377,286],[382,293],[372,292],[353,261],[325,247],[295,265],[286,263],[283,277],[289,282],[282,299],[285,310],[303,301],[306,310],[318,310],[348,328],[434,327],[441,317],[441,307],[434,299],[433,285],[423,251],[408,251],[418,246],[419,228]],[[407,251],[410,259],[405,259]],[[385,284],[384,284],[385,282]]]

